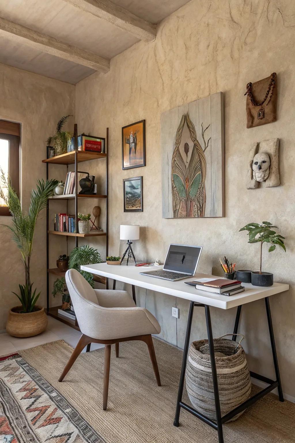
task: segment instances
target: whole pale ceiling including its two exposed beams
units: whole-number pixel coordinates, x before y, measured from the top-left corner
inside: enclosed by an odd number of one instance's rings
[[[140,39],[154,39],[155,24],[186,3],[0,0],[0,63],[76,84],[106,72],[109,59]]]

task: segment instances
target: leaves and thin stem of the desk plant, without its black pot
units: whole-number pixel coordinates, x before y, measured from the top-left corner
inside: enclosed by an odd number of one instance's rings
[[[276,231],[274,231],[272,228],[277,228],[277,226],[273,226],[272,223],[270,223],[269,221],[263,221],[261,225],[259,225],[258,223],[248,223],[248,225],[245,225],[243,228],[240,229],[240,231],[248,231],[248,243],[260,242],[260,273],[262,264],[263,243],[271,243],[271,246],[268,248],[268,252],[274,251],[276,249],[276,245],[279,245],[286,252],[286,247],[284,245],[285,237],[277,234]]]

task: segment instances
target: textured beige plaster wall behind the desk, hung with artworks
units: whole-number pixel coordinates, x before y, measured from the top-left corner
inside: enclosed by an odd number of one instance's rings
[[[295,5],[276,2],[198,0],[188,3],[159,26],[157,39],[138,43],[111,61],[108,74],[93,74],[76,86],[80,131],[103,135],[110,128],[110,249],[123,252],[119,225],[141,225],[134,251],[141,259],[164,259],[170,242],[203,245],[198,270],[220,274],[218,257],[226,254],[238,268],[259,264],[258,245],[247,244],[238,230],[247,222],[272,221],[287,237],[287,253],[264,249],[263,267],[290,291],[271,298],[284,392],[295,396],[295,253],[294,253],[294,30]],[[245,87],[278,74],[278,120],[246,129]],[[224,92],[225,218],[165,220],[161,215],[160,115],[178,105]],[[146,167],[122,171],[121,127],[146,119]],[[280,138],[281,185],[246,189],[248,151],[254,141]],[[93,166],[94,168],[94,166]],[[93,171],[93,170],[92,170]],[[143,175],[144,212],[123,213],[122,179]],[[94,244],[99,246],[100,240]],[[161,336],[184,345],[188,303],[160,293],[140,291],[140,303],[153,311]],[[180,319],[171,307],[180,308]],[[232,331],[235,310],[212,309],[214,335]],[[242,309],[240,330],[253,370],[274,376],[263,301]],[[192,337],[206,336],[203,309],[196,309]]]

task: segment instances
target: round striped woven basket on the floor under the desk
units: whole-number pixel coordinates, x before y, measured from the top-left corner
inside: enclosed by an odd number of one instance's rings
[[[213,342],[221,416],[224,416],[248,399],[251,392],[250,373],[245,351],[240,343],[221,337],[214,338]],[[195,409],[216,420],[208,340],[191,343],[185,384]],[[241,414],[242,412],[229,421],[236,420]]]

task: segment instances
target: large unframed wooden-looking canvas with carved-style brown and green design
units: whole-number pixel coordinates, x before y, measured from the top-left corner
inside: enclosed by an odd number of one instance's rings
[[[224,216],[223,93],[161,115],[162,216]]]

